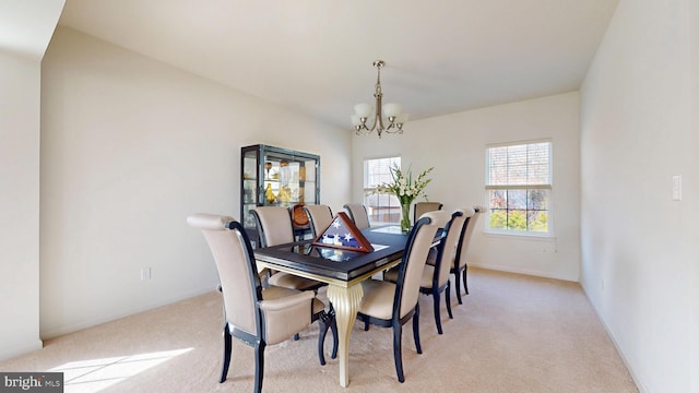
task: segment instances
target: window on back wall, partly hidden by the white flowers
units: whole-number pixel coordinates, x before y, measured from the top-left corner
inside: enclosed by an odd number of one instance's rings
[[[377,187],[392,181],[392,166],[401,166],[401,157],[366,159],[364,162],[364,205],[367,207],[369,223],[389,224],[401,221],[401,204],[391,193],[379,193]]]

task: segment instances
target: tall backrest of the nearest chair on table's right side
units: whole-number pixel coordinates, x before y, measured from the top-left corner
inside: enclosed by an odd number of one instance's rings
[[[399,265],[395,297],[393,298],[393,318],[404,317],[417,303],[423,270],[437,229],[437,225],[431,224],[431,219],[428,217],[418,219],[411,229],[403,260]],[[400,310],[398,314],[396,310]]]

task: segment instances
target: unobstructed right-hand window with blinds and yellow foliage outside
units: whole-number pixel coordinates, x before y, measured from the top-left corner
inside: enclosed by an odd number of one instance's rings
[[[509,234],[550,234],[552,143],[486,148],[487,228]]]

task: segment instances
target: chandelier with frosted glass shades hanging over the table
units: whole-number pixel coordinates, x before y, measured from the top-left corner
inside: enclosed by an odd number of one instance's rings
[[[402,107],[400,104],[381,104],[383,93],[381,93],[381,68],[386,66],[383,60],[377,60],[374,62],[374,67],[377,70],[376,76],[376,91],[374,98],[376,98],[376,112],[370,104],[357,104],[354,106],[354,115],[352,115],[352,124],[356,130],[357,135],[365,135],[376,130],[379,138],[381,133],[403,133],[403,124],[407,121],[408,114],[402,114]],[[383,108],[383,115],[388,119],[388,127],[383,126],[383,118],[381,117],[381,108]],[[372,115],[374,114],[374,115]],[[367,126],[369,116],[374,116],[374,123],[371,128]]]

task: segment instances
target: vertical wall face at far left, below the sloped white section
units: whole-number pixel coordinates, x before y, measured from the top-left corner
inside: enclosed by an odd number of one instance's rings
[[[0,50],[0,360],[39,340],[40,60]]]

